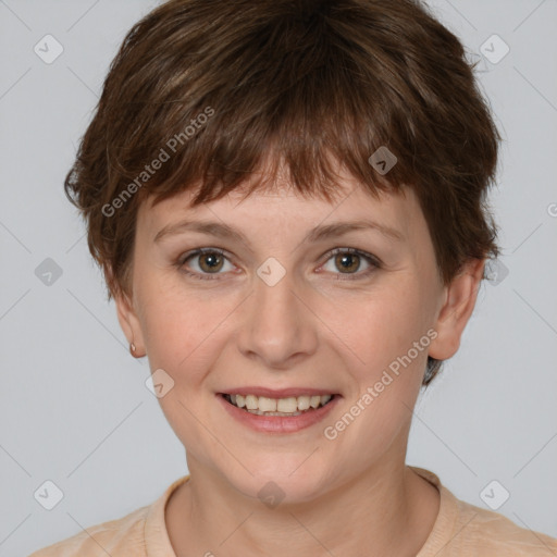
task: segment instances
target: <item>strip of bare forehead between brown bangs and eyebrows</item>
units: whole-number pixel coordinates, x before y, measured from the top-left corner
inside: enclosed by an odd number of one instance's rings
[[[275,181],[272,187],[256,189],[247,197],[246,188],[238,187],[220,199],[191,207],[196,193],[182,191],[156,206],[152,206],[152,198],[148,198],[139,208],[138,228],[153,237],[173,223],[210,220],[247,232],[257,228],[275,234],[307,231],[318,224],[371,220],[408,237],[425,224],[410,188],[372,195],[349,176],[339,181],[331,201],[318,196],[302,196],[284,180]]]

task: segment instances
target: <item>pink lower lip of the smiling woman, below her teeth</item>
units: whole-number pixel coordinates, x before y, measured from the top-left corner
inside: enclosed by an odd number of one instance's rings
[[[233,418],[252,430],[265,433],[295,433],[323,420],[331,412],[333,407],[336,406],[341,396],[335,395],[329,404],[317,410],[308,410],[298,416],[284,417],[258,416],[232,405],[222,395],[216,395],[216,398]]]

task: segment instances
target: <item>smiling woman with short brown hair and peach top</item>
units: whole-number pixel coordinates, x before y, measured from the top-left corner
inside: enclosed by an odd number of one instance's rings
[[[66,193],[189,475],[34,557],[557,554],[405,463],[497,255],[472,70],[410,0],[134,26]]]

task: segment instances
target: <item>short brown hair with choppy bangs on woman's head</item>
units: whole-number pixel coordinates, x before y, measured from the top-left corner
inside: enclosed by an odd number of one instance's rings
[[[131,292],[143,200],[219,199],[265,160],[329,201],[334,163],[372,195],[413,188],[445,283],[496,256],[485,195],[500,137],[474,67],[418,0],[161,4],[125,37],[64,184],[108,298]],[[397,159],[388,174],[369,162],[381,147]],[[429,359],[424,384],[438,367]]]

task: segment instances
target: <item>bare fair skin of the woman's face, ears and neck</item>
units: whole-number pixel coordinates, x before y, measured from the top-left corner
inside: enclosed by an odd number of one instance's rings
[[[159,400],[187,449],[191,475],[166,507],[176,555],[361,555],[366,547],[366,555],[412,556],[433,527],[438,493],[405,466],[412,409],[428,352],[447,359],[458,349],[483,261],[470,261],[444,285],[413,193],[376,199],[341,176],[333,203],[302,198],[277,178],[272,191],[246,199],[234,191],[191,209],[191,194],[184,193],[139,208],[133,290],[116,307],[136,356],[147,355],[151,371],[163,369],[174,381]],[[226,223],[250,246],[197,232],[153,242],[184,219]],[[368,228],[301,242],[314,226],[361,219],[401,239]],[[182,256],[200,247],[227,252],[219,274],[203,256],[180,268]],[[354,256],[350,273],[329,255],[334,248],[360,249],[382,263]],[[286,272],[274,286],[257,274],[270,257]],[[210,280],[184,269],[205,270]],[[436,337],[426,349],[336,438],[326,438],[324,428],[429,330]],[[318,424],[261,433],[232,419],[216,398],[246,385],[314,387],[342,398]],[[270,481],[284,493],[274,508],[258,498]]]

